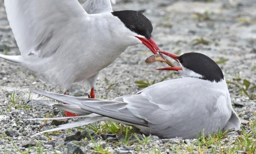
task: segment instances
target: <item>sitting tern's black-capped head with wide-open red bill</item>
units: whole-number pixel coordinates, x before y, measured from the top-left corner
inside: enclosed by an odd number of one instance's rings
[[[220,82],[224,79],[220,67],[209,57],[200,53],[186,53],[174,55],[168,52],[159,51],[179,62],[181,67],[168,67],[157,70],[178,71],[183,77],[196,77],[211,82]]]

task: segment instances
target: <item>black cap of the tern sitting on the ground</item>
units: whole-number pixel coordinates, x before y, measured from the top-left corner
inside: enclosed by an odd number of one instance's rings
[[[202,75],[204,80],[220,82],[224,79],[220,67],[204,54],[191,52],[183,54],[177,59],[187,69]]]

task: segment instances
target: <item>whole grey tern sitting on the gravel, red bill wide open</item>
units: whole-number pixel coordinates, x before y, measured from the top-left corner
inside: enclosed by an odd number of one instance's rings
[[[79,117],[86,117],[83,121],[60,125],[40,133],[102,120],[129,124],[139,128],[142,133],[162,138],[178,136],[191,139],[200,132],[213,134],[219,130],[240,128],[240,119],[232,108],[222,71],[212,59],[199,53],[187,53],[181,56],[160,53],[175,59],[181,67],[159,70],[176,70],[182,78],[163,81],[134,95],[121,96],[111,101],[82,99],[32,90],[68,104],[55,104],[55,107],[82,115]],[[64,118],[68,117],[59,119]]]

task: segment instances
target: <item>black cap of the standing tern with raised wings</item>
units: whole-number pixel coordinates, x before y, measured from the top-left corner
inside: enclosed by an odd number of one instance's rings
[[[112,14],[118,17],[124,25],[131,31],[145,36],[148,40],[151,38],[153,26],[151,22],[139,11],[114,11]]]

